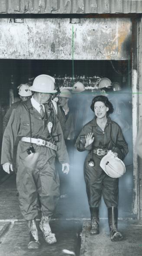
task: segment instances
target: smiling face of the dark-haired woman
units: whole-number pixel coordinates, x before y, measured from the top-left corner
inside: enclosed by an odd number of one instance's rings
[[[108,107],[102,101],[97,101],[94,104],[94,111],[97,118],[101,119],[106,117],[106,113],[109,110]]]

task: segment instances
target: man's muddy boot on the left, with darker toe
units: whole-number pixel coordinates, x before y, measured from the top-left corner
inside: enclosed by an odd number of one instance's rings
[[[40,242],[38,238],[38,231],[36,228],[35,219],[28,221],[30,242],[28,243],[28,249],[39,249]]]

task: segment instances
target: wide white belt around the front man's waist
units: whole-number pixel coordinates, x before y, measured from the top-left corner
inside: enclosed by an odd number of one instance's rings
[[[53,149],[53,150],[57,151],[57,146],[56,145],[54,145],[51,142],[47,142],[46,140],[43,140],[42,138],[22,137],[21,141],[22,142],[31,142],[31,143],[34,143],[38,146],[45,146],[45,147],[48,147],[50,149]]]

